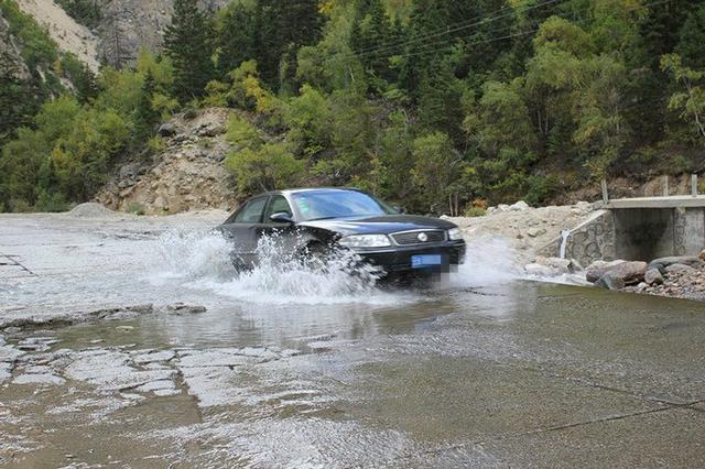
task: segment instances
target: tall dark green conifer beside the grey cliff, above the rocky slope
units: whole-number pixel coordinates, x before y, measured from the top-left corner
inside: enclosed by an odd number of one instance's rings
[[[214,77],[212,39],[210,20],[198,10],[196,0],[175,0],[164,50],[174,64],[174,95],[181,102],[203,96]]]

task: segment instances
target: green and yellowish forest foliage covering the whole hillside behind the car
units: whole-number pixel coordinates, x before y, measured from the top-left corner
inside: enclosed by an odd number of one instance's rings
[[[61,1],[94,21],[94,0]],[[197,3],[175,1],[164,56],[96,79],[0,0],[34,74],[0,76],[0,208],[89,197],[126,154],[161,151],[159,122],[203,106],[237,109],[226,165],[242,195],[356,185],[458,214],[705,167],[698,0]]]

